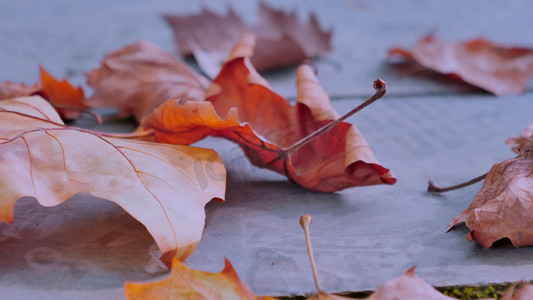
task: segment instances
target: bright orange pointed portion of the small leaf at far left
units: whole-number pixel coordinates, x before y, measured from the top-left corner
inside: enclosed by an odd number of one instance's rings
[[[56,107],[61,117],[74,120],[80,116],[81,111],[89,108],[84,103],[85,95],[81,87],[75,88],[65,79],[59,81],[41,67],[39,71],[41,95]]]

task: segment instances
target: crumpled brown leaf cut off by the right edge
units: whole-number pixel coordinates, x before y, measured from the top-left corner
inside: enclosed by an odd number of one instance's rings
[[[533,245],[533,144],[520,155],[495,164],[470,206],[455,217],[470,229],[467,239],[484,248],[509,238],[515,247]]]

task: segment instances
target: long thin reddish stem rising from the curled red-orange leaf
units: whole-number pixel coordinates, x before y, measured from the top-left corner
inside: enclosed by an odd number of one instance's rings
[[[372,95],[370,98],[366,99],[359,106],[357,106],[356,108],[352,109],[351,111],[349,111],[348,113],[346,113],[342,117],[338,118],[337,120],[335,120],[335,121],[323,126],[322,128],[320,128],[320,129],[316,130],[315,132],[311,133],[310,135],[306,136],[305,138],[299,140],[298,142],[294,143],[289,148],[283,150],[278,157],[276,157],[275,159],[270,161],[268,164],[272,164],[272,163],[274,163],[274,162],[276,162],[276,161],[278,161],[278,160],[280,160],[282,158],[285,158],[285,157],[289,156],[292,152],[294,152],[294,151],[300,149],[301,147],[309,144],[310,142],[314,141],[316,138],[318,138],[319,136],[323,135],[324,133],[330,131],[331,129],[333,129],[333,127],[339,125],[344,120],[348,119],[349,117],[351,117],[352,115],[354,115],[358,111],[360,111],[363,108],[365,108],[365,107],[369,106],[370,104],[374,103],[376,100],[383,98],[383,96],[385,96],[385,94],[387,93],[387,84],[385,83],[385,81],[383,81],[381,79],[376,79],[374,81],[374,89],[376,90],[376,93],[374,93],[374,95]]]

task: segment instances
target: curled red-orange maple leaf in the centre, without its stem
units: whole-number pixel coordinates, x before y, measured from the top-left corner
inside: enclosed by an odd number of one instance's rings
[[[292,151],[338,115],[309,66],[297,70],[298,103],[274,93],[250,65],[254,37],[244,35],[208,92],[207,101],[165,102],[141,124],[155,140],[190,144],[208,135],[238,143],[253,164],[315,191],[394,184],[359,130],[342,122]]]

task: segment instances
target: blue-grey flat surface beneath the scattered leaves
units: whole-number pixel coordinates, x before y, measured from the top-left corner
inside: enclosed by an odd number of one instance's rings
[[[270,2],[270,1],[269,1]],[[253,19],[256,2],[231,2]],[[393,45],[409,46],[438,27],[452,40],[483,35],[533,46],[533,6],[527,1],[301,1],[276,7],[314,10],[335,30],[319,77],[346,112],[371,93],[381,77],[389,95],[349,119],[373,146],[378,160],[398,177],[394,186],[320,194],[250,165],[228,141],[207,139],[228,168],[225,203],[210,203],[191,267],[218,272],[228,257],[250,288],[261,295],[313,292],[313,279],[298,219],[313,215],[311,238],[326,291],[375,289],[417,265],[433,285],[533,279],[532,247],[488,250],[464,239],[465,228],[445,233],[448,222],[480,188],[435,196],[428,179],[450,184],[475,177],[513,154],[504,139],[532,120],[533,94],[497,98],[437,76],[400,76],[383,64]],[[195,12],[200,1],[3,1],[0,2],[0,81],[31,83],[37,65],[84,83],[83,72],[103,55],[139,38],[171,52],[161,13]],[[222,2],[209,2],[224,11]],[[267,74],[276,91],[294,96],[294,74]],[[530,85],[531,86],[531,82]],[[79,126],[94,128],[82,119]],[[111,124],[104,130],[128,130]],[[118,206],[86,195],[45,208],[19,201],[13,224],[0,224],[0,292],[6,299],[120,299],[122,284],[166,274],[152,238]]]

